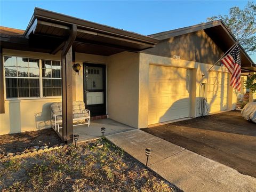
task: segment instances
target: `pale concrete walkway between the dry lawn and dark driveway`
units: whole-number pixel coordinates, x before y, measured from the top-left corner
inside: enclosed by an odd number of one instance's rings
[[[256,178],[141,130],[106,138],[143,164],[152,148],[149,168],[184,191],[256,191]]]

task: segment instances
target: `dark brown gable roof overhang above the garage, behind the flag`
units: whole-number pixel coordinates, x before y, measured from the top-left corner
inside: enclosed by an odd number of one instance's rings
[[[183,27],[170,31],[164,31],[157,34],[152,34],[150,37],[158,38],[161,41],[171,37],[194,33],[198,30],[204,30],[207,35],[217,44],[220,49],[225,53],[228,49],[237,42],[235,36],[230,32],[222,20],[210,21],[201,23],[194,26]],[[256,65],[239,44],[241,50],[241,68],[246,71],[256,71]]]

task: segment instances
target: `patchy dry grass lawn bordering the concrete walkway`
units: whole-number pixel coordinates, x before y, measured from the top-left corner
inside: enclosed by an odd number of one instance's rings
[[[0,162],[0,191],[177,191],[109,141],[100,149],[97,142]]]

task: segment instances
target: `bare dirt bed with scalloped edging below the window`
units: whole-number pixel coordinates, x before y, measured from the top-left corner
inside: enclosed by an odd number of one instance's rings
[[[50,147],[61,143],[61,139],[52,129],[5,134],[0,136],[0,152],[22,152],[36,145],[43,146],[44,143]]]

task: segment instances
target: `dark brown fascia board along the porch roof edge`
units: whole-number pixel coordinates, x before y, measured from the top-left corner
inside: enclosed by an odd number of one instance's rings
[[[24,33],[25,36],[28,34],[30,27],[32,26],[35,19],[38,19],[38,20],[43,19],[47,21],[63,23],[69,26],[76,25],[77,28],[99,31],[101,33],[106,33],[109,35],[130,38],[130,39],[134,39],[135,41],[145,42],[152,45],[155,45],[159,42],[158,39],[153,37],[148,37],[148,36],[136,34],[130,31],[125,31],[122,29],[101,25],[99,23],[78,19],[65,14],[60,14],[60,13],[40,9],[38,7],[35,8],[33,17],[31,18],[29,25],[25,30],[25,33]]]

